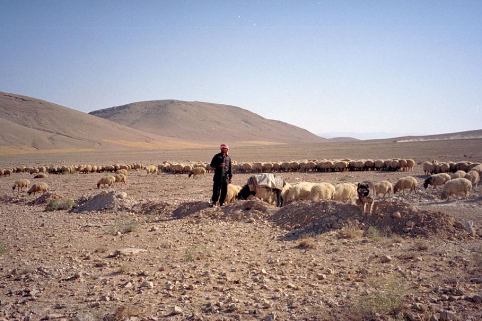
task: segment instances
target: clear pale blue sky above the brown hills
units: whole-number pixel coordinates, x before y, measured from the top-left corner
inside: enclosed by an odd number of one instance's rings
[[[327,136],[478,130],[481,17],[481,1],[0,0],[0,91],[84,112],[221,103]]]

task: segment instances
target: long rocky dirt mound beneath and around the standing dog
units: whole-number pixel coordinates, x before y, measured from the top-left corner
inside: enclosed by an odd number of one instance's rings
[[[455,220],[441,212],[429,212],[400,200],[375,203],[374,214],[362,216],[360,207],[321,201],[292,203],[279,210],[271,220],[286,229],[301,229],[304,233],[323,233],[341,228],[348,221],[408,236],[455,237],[466,231],[454,227]]]

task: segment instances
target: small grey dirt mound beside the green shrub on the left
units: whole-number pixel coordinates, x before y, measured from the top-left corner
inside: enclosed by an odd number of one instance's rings
[[[85,199],[81,198],[76,201],[78,207],[72,209],[72,212],[85,211],[130,211],[137,201],[127,197],[126,192],[117,192],[102,190],[99,194]]]

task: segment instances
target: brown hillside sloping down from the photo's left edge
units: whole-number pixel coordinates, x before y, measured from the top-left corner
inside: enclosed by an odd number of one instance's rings
[[[0,92],[0,154],[202,147],[44,100]]]

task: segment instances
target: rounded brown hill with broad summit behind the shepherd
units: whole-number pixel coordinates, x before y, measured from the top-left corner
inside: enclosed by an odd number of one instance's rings
[[[266,119],[246,109],[197,101],[143,101],[95,110],[90,114],[156,135],[206,144],[273,145],[326,141],[300,127]]]

